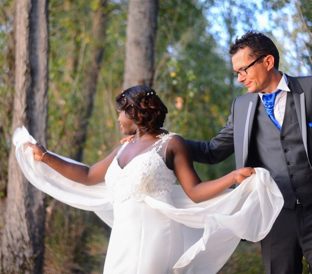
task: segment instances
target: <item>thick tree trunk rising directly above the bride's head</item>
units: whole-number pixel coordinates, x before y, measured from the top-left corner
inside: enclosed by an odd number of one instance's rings
[[[157,12],[158,0],[129,1],[123,89],[153,84]]]

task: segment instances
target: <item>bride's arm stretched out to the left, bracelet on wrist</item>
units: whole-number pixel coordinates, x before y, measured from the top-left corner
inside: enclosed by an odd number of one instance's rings
[[[35,160],[42,161],[64,177],[84,185],[95,185],[104,181],[106,171],[119,149],[119,147],[117,147],[105,159],[88,167],[69,163],[56,155],[50,154],[40,144],[31,144],[29,142],[27,144],[33,148]]]

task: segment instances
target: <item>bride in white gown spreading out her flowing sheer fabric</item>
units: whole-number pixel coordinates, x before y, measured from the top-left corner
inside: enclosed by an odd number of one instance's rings
[[[153,89],[131,87],[116,102],[120,130],[134,138],[91,167],[47,151],[25,128],[13,135],[33,185],[112,227],[104,273],[216,273],[241,238],[265,237],[283,205],[266,170],[202,182],[186,141],[162,129],[168,111]]]

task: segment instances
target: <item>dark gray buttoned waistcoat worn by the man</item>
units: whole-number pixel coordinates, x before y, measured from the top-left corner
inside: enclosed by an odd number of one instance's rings
[[[258,100],[247,166],[266,168],[284,197],[284,207],[312,204],[312,169],[309,165],[298,122],[293,95],[287,92],[281,131]]]

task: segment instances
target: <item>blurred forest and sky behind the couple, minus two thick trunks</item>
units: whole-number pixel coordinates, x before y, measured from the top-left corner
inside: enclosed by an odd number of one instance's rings
[[[128,87],[124,87],[128,83],[124,79],[127,47],[131,54],[127,44],[131,1],[138,5],[149,0],[42,1],[46,2],[49,62],[46,132],[41,143],[46,142],[49,150],[91,165],[124,137],[117,122],[115,96]],[[33,252],[25,255],[22,263],[4,266],[4,246],[16,246],[5,225],[14,222],[9,220],[8,210],[17,199],[9,195],[8,179],[10,168],[17,169],[9,163],[16,128],[13,110],[19,69],[16,58],[20,56],[16,45],[23,36],[18,34],[16,23],[17,2],[22,0],[0,0],[1,273],[6,273],[5,269],[34,272],[37,256]],[[260,30],[272,38],[280,51],[280,70],[292,76],[311,75],[310,0],[154,2],[157,24],[149,84],[168,107],[166,129],[184,138],[209,141],[226,124],[233,99],[246,92],[231,75],[228,48],[247,30]],[[100,31],[95,26],[100,26]],[[202,179],[209,180],[235,169],[235,162],[230,157],[214,166],[195,167]],[[93,212],[71,208],[51,197],[42,201],[46,212],[43,272],[101,273],[110,229]],[[7,253],[15,258],[17,251],[13,249],[7,248]],[[259,244],[241,243],[220,273],[264,273]],[[304,273],[309,273],[307,267]]]

